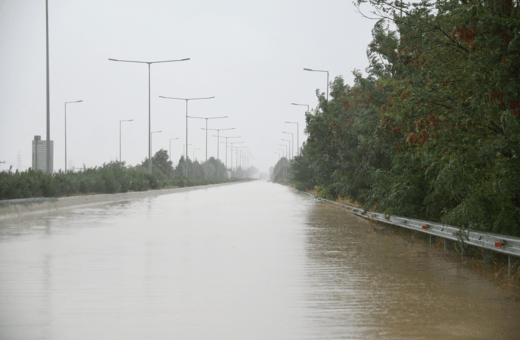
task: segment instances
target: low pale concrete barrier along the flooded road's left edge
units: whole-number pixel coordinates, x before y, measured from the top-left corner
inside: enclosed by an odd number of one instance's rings
[[[211,187],[236,184],[240,182],[221,183],[200,185],[194,187],[174,188],[174,189],[160,189],[149,191],[135,191],[119,194],[99,194],[99,195],[83,195],[60,198],[22,198],[16,200],[2,200],[0,201],[0,221],[23,217],[38,213],[49,213],[56,210],[77,208],[84,206],[91,206],[103,204],[108,202],[128,201],[132,199],[155,197],[159,195],[168,195],[177,192],[186,192],[192,190],[207,189]]]

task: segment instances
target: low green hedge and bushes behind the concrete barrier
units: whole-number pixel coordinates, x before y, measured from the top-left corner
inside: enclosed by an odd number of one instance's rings
[[[184,166],[187,165],[188,176]],[[128,191],[146,191],[168,187],[186,187],[238,181],[254,175],[239,169],[231,172],[211,157],[199,163],[181,157],[177,167],[172,166],[165,150],[152,158],[152,174],[148,173],[148,159],[140,165],[126,166],[125,162],[105,163],[100,167],[84,168],[81,172],[58,172],[53,175],[29,169],[23,172],[0,172],[0,200],[61,197],[75,194],[113,194]]]

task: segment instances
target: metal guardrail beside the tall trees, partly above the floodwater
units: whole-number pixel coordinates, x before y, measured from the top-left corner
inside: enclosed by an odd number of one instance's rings
[[[438,236],[447,240],[458,241],[462,243],[463,246],[471,245],[509,256],[520,257],[519,237],[493,234],[475,230],[465,231],[458,227],[435,222],[374,213],[366,211],[362,208],[350,206],[348,204],[342,204],[321,197],[317,197],[308,192],[306,194],[316,198],[320,202],[327,202],[335,205],[340,205],[341,209],[350,211],[358,216],[367,219],[393,224],[395,226],[399,226],[406,229],[420,231],[422,233],[429,234],[434,237]],[[511,259],[509,259],[509,263],[511,264]],[[511,265],[509,267],[511,267]]]

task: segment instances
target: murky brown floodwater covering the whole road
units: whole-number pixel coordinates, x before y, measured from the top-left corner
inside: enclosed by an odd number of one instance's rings
[[[520,300],[266,182],[0,221],[0,339],[520,339]]]

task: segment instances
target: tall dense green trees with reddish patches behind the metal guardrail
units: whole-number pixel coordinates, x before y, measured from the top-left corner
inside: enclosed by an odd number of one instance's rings
[[[341,77],[306,116],[291,163],[390,215],[520,235],[520,8],[511,0],[369,2],[367,75]],[[390,29],[389,23],[395,30]]]

